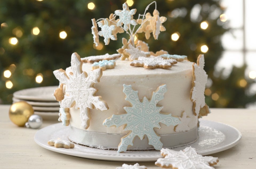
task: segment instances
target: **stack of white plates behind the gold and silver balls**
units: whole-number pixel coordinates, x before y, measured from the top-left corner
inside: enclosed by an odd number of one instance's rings
[[[59,102],[54,99],[53,93],[58,86],[35,87],[19,90],[13,93],[13,103],[25,101],[29,103],[34,114],[44,120],[58,120]]]

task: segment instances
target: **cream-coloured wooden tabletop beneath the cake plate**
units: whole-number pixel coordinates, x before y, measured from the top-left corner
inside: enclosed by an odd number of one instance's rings
[[[44,149],[34,141],[37,129],[15,126],[9,119],[10,105],[0,105],[0,168],[116,168],[124,162],[92,160],[56,153]],[[203,119],[222,122],[242,133],[239,143],[209,156],[218,157],[215,168],[256,168],[256,110],[212,108]],[[41,128],[56,121],[44,121]],[[126,163],[135,164],[135,163]],[[139,162],[148,169],[160,168],[154,162]]]

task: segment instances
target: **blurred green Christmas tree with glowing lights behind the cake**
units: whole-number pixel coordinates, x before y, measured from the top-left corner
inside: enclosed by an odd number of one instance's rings
[[[53,70],[70,66],[73,52],[81,57],[116,53],[122,47],[122,37],[110,40],[108,46],[93,44],[92,18],[108,18],[110,13],[122,9],[127,2],[132,9],[143,13],[150,1],[69,1],[69,0],[2,0],[0,6],[0,98],[10,104],[14,91],[58,85]],[[247,94],[253,81],[245,78],[246,65],[233,67],[229,77],[214,72],[223,48],[221,36],[228,31],[220,15],[224,9],[217,0],[157,1],[160,16],[167,17],[166,28],[158,40],[146,39],[144,33],[136,37],[149,44],[150,50],[166,50],[170,54],[188,56],[195,62],[199,54],[205,55],[205,70],[209,83],[206,103],[209,107],[245,107],[256,100]],[[150,6],[151,13],[154,6]],[[135,14],[134,19],[138,16]],[[128,38],[129,39],[129,38]]]

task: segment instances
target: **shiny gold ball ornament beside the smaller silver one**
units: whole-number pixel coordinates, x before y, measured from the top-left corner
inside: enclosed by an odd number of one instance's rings
[[[13,103],[9,109],[10,120],[18,126],[24,126],[29,117],[33,114],[33,107],[23,101]]]

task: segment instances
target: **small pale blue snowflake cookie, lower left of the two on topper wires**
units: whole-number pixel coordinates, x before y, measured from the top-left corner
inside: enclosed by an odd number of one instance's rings
[[[98,22],[98,25],[101,28],[101,31],[98,32],[98,35],[104,37],[105,45],[109,44],[109,39],[117,40],[116,34],[113,35],[113,32],[117,27],[115,25],[110,25],[109,19],[104,19],[104,25],[101,22]]]

